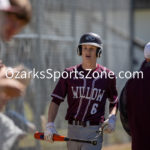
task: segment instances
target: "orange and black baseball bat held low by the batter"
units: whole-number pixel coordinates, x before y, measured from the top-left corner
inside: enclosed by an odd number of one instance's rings
[[[37,140],[44,140],[44,133],[43,132],[36,132],[34,134],[34,138]],[[72,138],[68,138],[65,136],[58,135],[58,134],[53,135],[53,141],[75,141],[75,142],[90,143],[93,145],[97,145],[97,140],[72,139]]]

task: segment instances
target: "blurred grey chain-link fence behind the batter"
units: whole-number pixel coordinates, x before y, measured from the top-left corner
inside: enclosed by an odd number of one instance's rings
[[[129,0],[31,0],[33,17],[31,23],[9,43],[0,43],[0,58],[8,66],[20,63],[31,71],[63,71],[64,68],[81,63],[76,54],[80,36],[96,32],[103,40],[104,50],[98,63],[116,74],[130,68],[130,1]],[[47,115],[50,94],[56,85],[53,79],[36,77],[32,80],[22,101],[32,113],[37,130],[42,130],[41,116]],[[120,92],[125,80],[118,79]],[[15,104],[19,101],[15,101]],[[11,104],[12,105],[12,104]],[[11,108],[7,106],[7,110]],[[26,111],[26,109],[25,109]],[[58,129],[67,127],[64,121],[66,105],[60,108],[56,119]],[[29,117],[27,114],[27,117]],[[119,117],[118,117],[119,120]],[[119,121],[118,121],[119,122]],[[106,136],[105,144],[127,141],[120,123],[116,132]],[[34,149],[41,149],[37,142]],[[50,148],[49,148],[50,149]]]

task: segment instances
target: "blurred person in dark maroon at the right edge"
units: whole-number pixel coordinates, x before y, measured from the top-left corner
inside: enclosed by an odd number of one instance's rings
[[[119,99],[122,125],[131,136],[132,150],[150,150],[150,42],[144,48],[143,75],[127,81]]]

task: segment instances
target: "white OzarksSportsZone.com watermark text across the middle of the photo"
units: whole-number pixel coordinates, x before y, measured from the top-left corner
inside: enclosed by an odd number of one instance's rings
[[[106,70],[98,72],[92,71],[91,69],[86,69],[86,74],[84,71],[57,71],[51,68],[46,70],[38,71],[35,68],[30,70],[29,72],[26,71],[14,71],[12,68],[8,68],[6,71],[6,78],[11,79],[25,79],[25,78],[32,78],[32,79],[51,79],[56,82],[59,78],[67,79],[67,78],[75,78],[75,79],[98,79],[98,78],[120,78],[120,79],[130,79],[130,78],[143,78],[142,71],[120,71],[117,75],[113,71],[107,72]]]

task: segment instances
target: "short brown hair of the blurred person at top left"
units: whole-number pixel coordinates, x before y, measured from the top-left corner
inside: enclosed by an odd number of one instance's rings
[[[29,0],[9,0],[10,7],[5,8],[4,11],[8,14],[14,14],[17,18],[24,20],[28,23],[31,20],[31,4]]]

